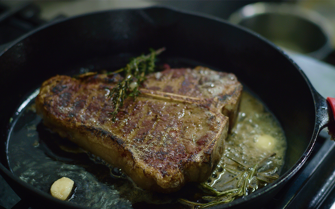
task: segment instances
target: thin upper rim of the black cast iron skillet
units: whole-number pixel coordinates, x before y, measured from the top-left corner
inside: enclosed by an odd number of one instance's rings
[[[221,18],[215,17],[213,15],[202,14],[202,13],[193,12],[193,11],[185,11],[185,10],[182,10],[182,9],[176,9],[176,8],[169,7],[169,6],[157,6],[156,5],[156,6],[141,7],[141,8],[121,8],[121,9],[102,10],[102,11],[95,11],[95,12],[80,14],[80,15],[76,15],[76,16],[73,16],[73,17],[68,17],[68,18],[65,18],[65,19],[57,20],[55,22],[47,23],[47,24],[45,24],[43,26],[40,26],[39,28],[36,28],[35,30],[29,31],[28,33],[24,34],[23,36],[21,36],[21,37],[17,38],[16,40],[10,42],[8,45],[6,45],[6,47],[4,48],[4,50],[0,51],[0,57],[4,53],[6,53],[6,51],[9,48],[15,46],[20,41],[22,41],[23,39],[29,37],[30,35],[38,33],[39,31],[42,31],[45,28],[51,27],[53,25],[56,25],[56,24],[59,24],[59,23],[62,23],[62,22],[70,21],[72,19],[80,18],[82,16],[93,16],[93,15],[97,15],[97,14],[101,14],[101,13],[109,13],[109,12],[114,12],[114,11],[125,11],[125,10],[127,10],[127,11],[144,11],[145,12],[145,11],[150,10],[150,9],[165,9],[165,10],[170,10],[172,12],[176,12],[176,13],[180,13],[180,14],[198,16],[198,17],[201,17],[201,18],[209,19],[211,21],[220,22],[221,24],[222,23],[223,24],[228,24],[231,27],[236,27],[239,30],[246,31],[249,34],[251,34],[253,36],[256,36],[256,38],[261,39],[263,42],[266,42],[272,48],[274,48],[275,50],[279,51],[279,53],[282,56],[284,56],[286,59],[289,60],[289,62],[294,66],[294,68],[296,70],[298,70],[298,72],[300,73],[300,75],[303,76],[304,81],[306,82],[306,84],[308,85],[308,87],[310,89],[310,93],[312,95],[313,100],[314,101],[316,100],[315,99],[317,97],[316,94],[318,94],[318,93],[316,92],[316,90],[312,86],[311,82],[309,81],[309,79],[307,78],[307,76],[305,75],[305,73],[300,69],[300,67],[282,49],[280,49],[278,46],[276,46],[271,41],[267,40],[266,38],[264,38],[260,34],[254,32],[254,31],[251,31],[248,28],[244,28],[243,26],[239,26],[239,25],[234,25],[232,23],[229,23],[226,20],[223,20]],[[269,192],[270,190],[275,189],[275,187],[283,186],[303,166],[303,164],[307,161],[307,158],[310,155],[310,153],[311,153],[311,151],[312,151],[312,149],[314,147],[315,141],[316,141],[316,137],[314,137],[314,136],[317,135],[319,133],[319,131],[321,130],[320,129],[321,127],[319,127],[319,129],[317,129],[317,127],[316,127],[317,126],[316,125],[317,124],[317,117],[316,117],[317,116],[317,112],[316,112],[317,107],[316,107],[315,104],[314,104],[314,108],[315,108],[315,124],[314,124],[313,135],[311,136],[309,145],[306,148],[303,156],[300,156],[299,160],[287,172],[285,172],[284,174],[282,174],[279,177],[279,179],[276,180],[275,182],[271,183],[270,185],[268,185],[268,186],[266,186],[264,188],[261,188],[261,189],[257,190],[254,193],[249,194],[248,196],[246,196],[244,198],[239,198],[239,199],[233,201],[232,203],[228,203],[228,204],[225,204],[225,205],[214,206],[213,208],[227,208],[227,207],[232,207],[232,206],[238,206],[238,205],[240,205],[242,203],[249,202],[250,200],[257,198],[258,196],[261,196],[264,193]],[[7,130],[7,133],[8,133],[8,130]],[[36,195],[43,196],[44,198],[48,199],[49,201],[56,201],[56,202],[58,202],[60,204],[63,204],[64,206],[71,206],[71,207],[74,207],[74,208],[86,208],[86,207],[83,207],[83,206],[80,206],[80,205],[77,205],[77,204],[74,204],[74,203],[71,203],[71,202],[63,202],[63,201],[57,200],[57,199],[53,198],[51,195],[46,194],[46,192],[43,192],[41,190],[36,189],[32,185],[30,185],[30,184],[22,181],[18,177],[16,177],[7,168],[5,168],[5,166],[2,163],[0,164],[0,170],[1,170],[1,172],[4,172],[7,175],[7,177],[9,177],[11,180],[14,180],[16,183],[20,184],[21,186],[25,187],[28,190],[32,190]]]

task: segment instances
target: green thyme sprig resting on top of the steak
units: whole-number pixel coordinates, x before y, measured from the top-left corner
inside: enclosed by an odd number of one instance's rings
[[[115,121],[116,114],[123,106],[125,99],[128,96],[132,96],[134,99],[136,96],[138,96],[140,93],[138,89],[139,85],[145,80],[145,76],[148,73],[154,71],[156,56],[162,53],[164,50],[164,47],[158,50],[150,49],[150,54],[133,58],[126,65],[126,67],[110,73],[116,74],[125,72],[124,79],[113,89],[110,89],[110,93],[108,95],[108,97],[112,98],[112,103],[114,106],[114,111],[110,113],[113,116],[113,121]]]

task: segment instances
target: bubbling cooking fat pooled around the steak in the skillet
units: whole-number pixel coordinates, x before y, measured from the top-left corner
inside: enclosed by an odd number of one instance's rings
[[[283,130],[261,102],[243,92],[238,123],[226,139],[224,156],[207,182],[190,183],[172,194],[144,191],[120,169],[48,130],[34,108],[37,93],[38,90],[22,103],[11,122],[7,141],[9,167],[22,181],[46,193],[50,193],[57,179],[72,179],[76,190],[66,201],[81,206],[156,208],[159,204],[161,208],[198,208],[230,202],[274,181],[284,163]],[[218,191],[233,192],[217,195]]]

